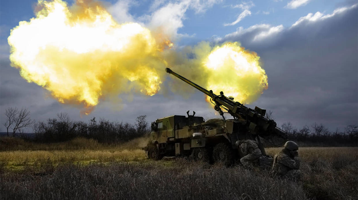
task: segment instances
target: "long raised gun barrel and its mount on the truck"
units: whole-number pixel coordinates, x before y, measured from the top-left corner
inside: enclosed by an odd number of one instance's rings
[[[252,134],[259,135],[263,138],[272,138],[275,136],[286,138],[286,133],[280,128],[276,127],[276,122],[265,117],[265,109],[261,109],[257,106],[255,109],[248,108],[240,102],[233,101],[233,97],[226,97],[222,91],[220,92],[220,95],[216,95],[212,90],[208,91],[207,89],[195,84],[187,78],[173,72],[170,68],[165,68],[165,71],[208,95],[211,98],[211,102],[215,105],[214,109],[222,116],[224,121],[225,118],[222,109],[231,114],[234,119],[241,121],[245,120],[246,125]]]

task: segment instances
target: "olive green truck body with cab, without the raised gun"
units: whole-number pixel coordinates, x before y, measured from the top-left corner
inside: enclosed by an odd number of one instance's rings
[[[237,140],[256,140],[256,136],[247,130],[245,124],[245,121],[240,122],[235,119],[228,119],[226,122],[222,119],[209,119],[205,122],[203,117],[179,115],[164,117],[152,123],[148,144],[142,149],[147,152],[149,158],[157,160],[164,156],[189,155],[195,160],[201,160],[200,155],[194,152],[199,148],[208,154],[208,159],[203,161],[223,161],[229,165],[241,157],[235,145]],[[230,155],[223,155],[224,160],[213,157],[214,148],[218,144],[225,144],[230,151]],[[151,152],[151,148],[158,149],[158,152]],[[264,148],[261,151],[265,154]],[[153,153],[159,155],[151,155]]]

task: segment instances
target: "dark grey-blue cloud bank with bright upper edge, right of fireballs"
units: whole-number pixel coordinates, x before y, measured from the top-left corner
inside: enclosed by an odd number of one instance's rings
[[[269,89],[255,104],[274,111],[280,124],[316,122],[342,130],[358,123],[357,15],[354,6],[313,14],[289,28],[256,25],[221,42],[240,41],[261,57]]]

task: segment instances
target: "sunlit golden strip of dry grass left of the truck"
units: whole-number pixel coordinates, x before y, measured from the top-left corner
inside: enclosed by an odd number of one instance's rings
[[[29,142],[19,138],[10,138],[9,141],[19,144],[14,149],[22,150],[0,151],[0,173],[4,170],[24,170],[29,166],[35,169],[42,163],[49,162],[54,166],[71,163],[88,165],[141,161],[146,158],[145,152],[141,150],[141,147],[144,147],[147,142],[145,137],[117,145],[105,145],[97,143],[93,139],[75,138],[63,143],[34,144],[28,150],[25,149],[27,146],[31,146]]]

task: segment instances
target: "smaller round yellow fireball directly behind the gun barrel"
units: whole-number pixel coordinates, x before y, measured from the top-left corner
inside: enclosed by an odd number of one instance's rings
[[[226,43],[214,47],[204,59],[207,88],[243,104],[252,103],[267,89],[267,75],[260,67],[260,57],[241,47],[239,43]],[[206,99],[210,102],[210,97]]]

